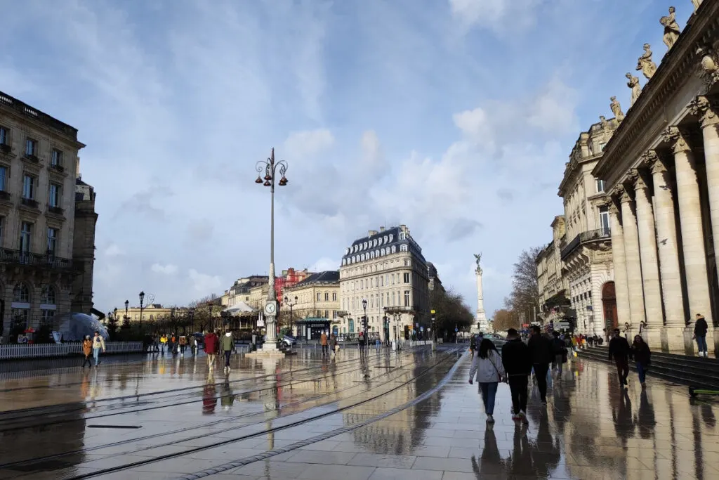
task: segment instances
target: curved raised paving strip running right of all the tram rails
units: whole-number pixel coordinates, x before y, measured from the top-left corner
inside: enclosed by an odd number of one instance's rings
[[[250,463],[255,463],[256,461],[266,460],[267,458],[271,458],[273,456],[278,456],[282,453],[288,453],[292,450],[297,450],[298,448],[302,448],[302,447],[306,447],[307,445],[311,445],[312,443],[321,442],[322,440],[327,440],[328,438],[335,437],[336,435],[342,435],[342,433],[352,432],[353,430],[357,430],[358,428],[365,427],[367,425],[370,425],[371,423],[377,422],[379,420],[383,420],[387,417],[391,417],[392,415],[395,415],[396,413],[401,412],[404,409],[408,409],[409,407],[413,407],[414,405],[416,405],[420,402],[423,402],[424,400],[428,399],[432,395],[436,394],[436,392],[439,391],[440,389],[443,389],[444,386],[446,386],[446,384],[449,383],[449,381],[452,379],[452,377],[454,377],[454,374],[457,373],[457,369],[459,368],[460,363],[462,363],[462,361],[465,358],[467,358],[467,357],[464,355],[460,356],[459,359],[457,359],[457,361],[454,363],[452,368],[450,368],[449,371],[446,373],[444,378],[441,379],[441,381],[439,381],[439,383],[437,383],[434,387],[432,387],[428,391],[421,394],[419,397],[416,397],[415,399],[411,400],[410,402],[401,404],[398,407],[390,409],[387,412],[384,412],[380,415],[377,415],[375,417],[367,419],[364,422],[359,422],[359,423],[356,423],[349,427],[341,427],[336,430],[331,430],[330,432],[316,435],[315,437],[308,438],[307,440],[300,440],[298,442],[287,445],[286,447],[283,447],[283,448],[275,448],[274,450],[269,450],[265,453],[261,453],[260,455],[255,455],[255,456],[247,457],[247,458],[241,458],[239,460],[235,460],[235,461],[228,462],[228,463],[223,463],[222,465],[215,466],[212,468],[206,468],[205,470],[197,472],[195,474],[180,476],[180,477],[178,477],[177,480],[197,480],[197,479],[202,479],[206,476],[211,476],[214,474],[221,474],[224,471],[232,470],[232,468],[238,468],[241,466],[249,465]],[[439,363],[437,363],[437,365],[439,365]],[[409,381],[406,383],[409,383]],[[371,401],[371,400],[372,399],[368,399],[367,401]],[[354,407],[354,406],[352,406],[352,407]]]

